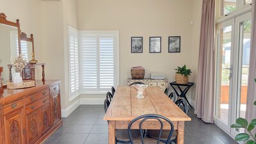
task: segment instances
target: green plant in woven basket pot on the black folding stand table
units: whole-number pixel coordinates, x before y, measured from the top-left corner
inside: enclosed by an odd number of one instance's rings
[[[175,80],[176,83],[179,84],[187,84],[188,83],[188,76],[192,73],[190,69],[187,69],[186,65],[183,67],[177,67],[175,68],[176,74],[175,74]]]

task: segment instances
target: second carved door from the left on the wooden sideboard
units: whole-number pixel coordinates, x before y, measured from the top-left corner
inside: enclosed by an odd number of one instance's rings
[[[26,115],[27,143],[33,143],[39,136],[39,111],[35,110]]]

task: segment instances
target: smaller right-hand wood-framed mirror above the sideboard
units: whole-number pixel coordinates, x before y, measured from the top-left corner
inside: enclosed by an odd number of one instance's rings
[[[35,60],[35,50],[34,50],[34,38],[33,34],[30,35],[30,38],[27,37],[26,33],[21,33],[20,35],[20,50],[21,54],[24,55],[29,63],[36,64]]]

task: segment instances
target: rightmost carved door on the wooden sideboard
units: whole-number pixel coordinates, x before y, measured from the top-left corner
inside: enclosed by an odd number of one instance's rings
[[[60,97],[58,95],[52,96],[51,100],[51,116],[52,116],[52,124],[56,124],[60,121]]]

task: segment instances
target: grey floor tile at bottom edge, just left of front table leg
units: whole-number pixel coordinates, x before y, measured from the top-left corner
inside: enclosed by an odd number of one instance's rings
[[[84,144],[108,144],[108,134],[89,134]]]

